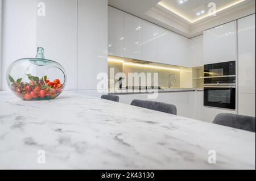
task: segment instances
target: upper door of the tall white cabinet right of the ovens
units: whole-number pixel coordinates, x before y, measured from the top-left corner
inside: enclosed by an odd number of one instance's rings
[[[255,94],[255,14],[238,20],[238,86]]]

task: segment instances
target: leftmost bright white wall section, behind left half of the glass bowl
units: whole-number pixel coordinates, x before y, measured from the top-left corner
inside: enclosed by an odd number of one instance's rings
[[[6,71],[19,58],[36,55],[35,0],[4,0],[2,28],[1,88],[9,90]]]

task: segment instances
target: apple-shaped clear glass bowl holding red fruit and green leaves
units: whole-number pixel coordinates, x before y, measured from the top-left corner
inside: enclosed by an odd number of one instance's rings
[[[39,47],[36,58],[22,58],[9,66],[7,84],[23,100],[55,99],[63,92],[67,74],[59,63],[46,60]]]

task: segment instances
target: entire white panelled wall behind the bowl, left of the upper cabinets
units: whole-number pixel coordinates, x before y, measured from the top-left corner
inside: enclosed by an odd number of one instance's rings
[[[39,2],[46,16],[38,16]],[[2,90],[9,65],[35,57],[37,47],[64,66],[66,90],[96,90],[97,74],[108,71],[108,1],[4,0],[2,43]]]

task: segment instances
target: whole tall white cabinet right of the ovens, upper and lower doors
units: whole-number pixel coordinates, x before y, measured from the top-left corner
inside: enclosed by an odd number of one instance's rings
[[[238,20],[238,113],[255,116],[255,14]]]

